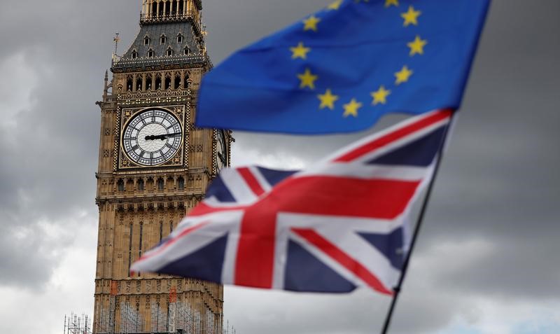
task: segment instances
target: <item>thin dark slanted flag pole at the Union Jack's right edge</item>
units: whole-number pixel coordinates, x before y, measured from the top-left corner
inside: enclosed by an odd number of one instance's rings
[[[449,126],[445,130],[445,134],[443,136],[442,142],[440,144],[440,148],[437,151],[437,160],[435,161],[435,166],[433,170],[433,176],[428,184],[428,190],[426,190],[426,196],[424,197],[424,201],[422,203],[422,208],[420,210],[420,214],[418,215],[418,219],[416,220],[416,226],[414,227],[414,233],[412,235],[412,240],[410,241],[410,249],[408,251],[408,255],[405,259],[405,263],[402,265],[402,272],[400,273],[400,278],[398,280],[397,286],[393,288],[393,300],[391,300],[391,307],[389,307],[387,316],[385,318],[385,322],[383,325],[383,330],[381,330],[381,334],[387,334],[389,326],[391,325],[391,319],[393,319],[393,312],[395,311],[395,306],[397,305],[398,296],[400,294],[400,290],[402,288],[402,283],[405,281],[405,277],[408,270],[408,265],[410,263],[410,258],[412,258],[412,252],[414,251],[414,246],[416,246],[416,239],[418,239],[418,235],[420,234],[420,228],[423,223],[423,218],[426,214],[426,209],[428,208],[428,202],[430,201],[430,196],[432,195],[433,186],[435,184],[435,178],[437,177],[437,172],[440,170],[440,165],[442,162],[443,152],[445,149],[445,145],[447,144],[447,139],[449,136],[449,130],[453,126],[453,122],[455,119],[456,111],[451,113],[451,120],[449,120]]]

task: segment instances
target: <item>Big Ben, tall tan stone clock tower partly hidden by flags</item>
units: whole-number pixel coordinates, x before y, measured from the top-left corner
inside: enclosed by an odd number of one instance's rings
[[[140,31],[105,76],[94,333],[220,333],[223,287],[129,272],[230,162],[230,132],[193,125],[212,65],[201,0],[144,0]]]

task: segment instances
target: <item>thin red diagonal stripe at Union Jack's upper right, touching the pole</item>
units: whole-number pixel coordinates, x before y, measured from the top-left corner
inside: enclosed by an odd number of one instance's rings
[[[451,113],[453,111],[451,111],[451,109],[444,109],[444,110],[440,110],[440,111],[436,111],[433,114],[431,114],[430,116],[427,116],[426,118],[422,118],[412,124],[409,124],[405,127],[400,127],[399,129],[393,131],[393,132],[389,132],[388,134],[385,134],[384,136],[381,136],[377,139],[374,139],[374,141],[370,141],[369,143],[366,143],[358,148],[355,148],[353,151],[350,151],[349,153],[346,153],[344,155],[342,155],[341,157],[337,158],[335,160],[335,162],[351,162],[352,160],[356,160],[358,158],[360,158],[362,155],[368,154],[368,153],[372,153],[373,151],[377,150],[378,148],[381,148],[383,146],[386,146],[387,144],[391,144],[391,142],[393,141],[397,141],[399,139],[402,139],[403,137],[408,136],[409,134],[412,134],[416,131],[419,131],[421,129],[423,129],[424,127],[428,127],[430,125],[433,125],[437,122],[440,122],[441,120],[444,120],[446,118],[450,118],[451,117]]]

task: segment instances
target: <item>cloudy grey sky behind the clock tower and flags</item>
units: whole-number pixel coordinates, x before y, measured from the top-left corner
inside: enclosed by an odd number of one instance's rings
[[[214,63],[327,4],[203,0]],[[0,11],[0,333],[92,313],[103,75],[136,0]],[[494,0],[391,333],[560,332],[560,1]],[[389,117],[376,128],[393,123]],[[235,164],[303,167],[364,134],[236,133]],[[227,288],[239,333],[376,333],[387,298]]]

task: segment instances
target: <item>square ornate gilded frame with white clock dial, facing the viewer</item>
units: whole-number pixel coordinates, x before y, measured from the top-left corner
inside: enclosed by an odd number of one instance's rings
[[[183,164],[184,108],[123,110],[119,168]]]

